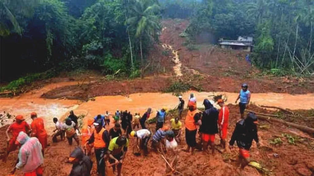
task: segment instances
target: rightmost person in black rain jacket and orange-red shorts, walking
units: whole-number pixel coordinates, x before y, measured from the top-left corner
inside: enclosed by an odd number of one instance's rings
[[[249,150],[252,146],[253,139],[255,140],[257,147],[260,146],[257,136],[257,122],[258,118],[255,114],[247,114],[246,119],[241,119],[236,123],[236,127],[229,141],[230,149],[233,148],[235,141],[239,147],[239,162],[241,163],[241,169],[250,162]]]

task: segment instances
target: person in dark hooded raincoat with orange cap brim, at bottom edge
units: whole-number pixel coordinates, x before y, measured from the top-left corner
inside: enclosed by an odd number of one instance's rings
[[[74,148],[73,152],[70,154],[68,162],[73,164],[69,176],[90,176],[93,162],[89,156],[84,155],[81,148]]]

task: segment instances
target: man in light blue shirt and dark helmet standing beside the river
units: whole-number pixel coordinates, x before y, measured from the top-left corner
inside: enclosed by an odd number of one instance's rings
[[[242,84],[242,89],[240,91],[238,98],[236,99],[236,103],[239,99],[240,99],[239,108],[240,108],[241,119],[244,119],[244,110],[250,104],[250,99],[251,99],[251,92],[248,90],[247,84]]]

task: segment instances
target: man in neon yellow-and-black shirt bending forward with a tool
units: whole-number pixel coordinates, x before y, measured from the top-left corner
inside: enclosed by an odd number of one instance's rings
[[[113,172],[115,172],[117,165],[117,176],[121,176],[122,164],[125,159],[128,146],[129,140],[125,136],[115,137],[110,141],[108,147],[109,163],[114,164],[112,165]]]

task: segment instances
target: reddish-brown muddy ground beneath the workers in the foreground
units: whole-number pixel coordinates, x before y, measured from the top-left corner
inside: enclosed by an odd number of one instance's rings
[[[230,140],[235,123],[239,118],[239,113],[237,106],[228,105],[228,107],[230,108],[230,125],[227,140]],[[256,112],[267,111],[253,105],[250,107],[250,109]],[[168,119],[169,118],[170,117],[168,117]],[[184,119],[182,122],[184,122]],[[111,124],[111,126],[113,126],[113,124]],[[313,138],[309,137],[303,132],[300,132],[299,130],[286,127],[278,123],[259,121],[258,126],[258,135],[261,147],[257,148],[255,142],[253,142],[250,153],[254,160],[261,163],[263,167],[270,169],[273,175],[276,176],[311,175],[311,171],[308,168],[314,166],[312,159],[314,157]],[[154,131],[154,124],[151,124],[150,127]],[[5,135],[6,128],[7,127],[2,127],[0,129],[1,136]],[[292,137],[294,137],[295,145],[290,144],[287,138],[283,137],[282,134],[290,134]],[[283,141],[281,145],[270,144],[270,141],[278,137]],[[186,147],[184,132],[181,138],[182,142],[178,146],[179,149]],[[69,146],[67,141],[52,143],[51,138],[49,138],[49,141],[51,146],[48,147],[45,152],[44,175],[68,175],[71,170],[71,165],[65,163],[65,161],[67,160],[69,153],[74,149],[74,146]],[[215,143],[219,144],[219,137],[216,137]],[[166,174],[165,162],[161,158],[160,154],[150,151],[148,157],[134,156],[132,154],[134,145],[135,140],[131,139],[130,147],[122,168],[122,174],[124,176],[161,176]],[[1,155],[5,152],[5,147],[6,138],[3,137],[0,139]],[[8,157],[7,163],[1,163],[1,176],[9,175],[8,173],[12,170],[14,162],[17,158],[17,153],[17,151],[11,153]],[[278,154],[278,157],[274,157],[274,154]],[[172,156],[170,153],[167,153],[166,157],[171,158]],[[213,156],[203,155],[202,152],[196,152],[194,156],[191,156],[190,153],[180,151],[176,169],[186,176],[239,175],[239,169],[236,167],[236,162],[231,162],[229,158],[237,158],[237,148],[231,150],[228,154],[220,154],[216,151]],[[94,155],[92,155],[92,159],[94,161],[92,176],[95,176],[96,166]],[[17,175],[19,174],[20,172],[17,173]],[[258,173],[254,168],[246,167],[244,169],[243,175],[257,176],[262,174]]]

